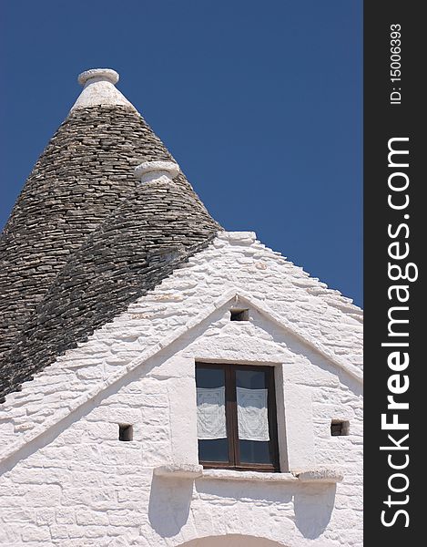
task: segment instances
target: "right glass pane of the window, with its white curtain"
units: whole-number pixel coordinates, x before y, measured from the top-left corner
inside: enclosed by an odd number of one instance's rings
[[[236,370],[241,463],[271,463],[265,370]]]

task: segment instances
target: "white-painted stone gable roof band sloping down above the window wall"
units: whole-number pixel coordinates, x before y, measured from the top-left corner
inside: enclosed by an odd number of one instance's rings
[[[47,429],[103,397],[151,358],[184,343],[200,325],[214,321],[220,310],[236,306],[256,310],[361,382],[361,326],[354,318],[361,318],[361,310],[256,242],[251,232],[223,232],[126,313],[59,357],[26,382],[20,393],[6,397],[3,408],[21,436],[13,440],[14,432],[5,432],[7,448],[0,459],[18,457]],[[34,397],[38,409],[33,408]],[[19,412],[14,420],[14,409],[23,405],[32,406],[31,420],[23,421]]]

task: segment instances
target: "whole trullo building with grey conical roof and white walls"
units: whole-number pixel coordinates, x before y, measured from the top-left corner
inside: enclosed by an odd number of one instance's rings
[[[0,544],[361,545],[361,309],[219,226],[117,79],[2,235]]]

